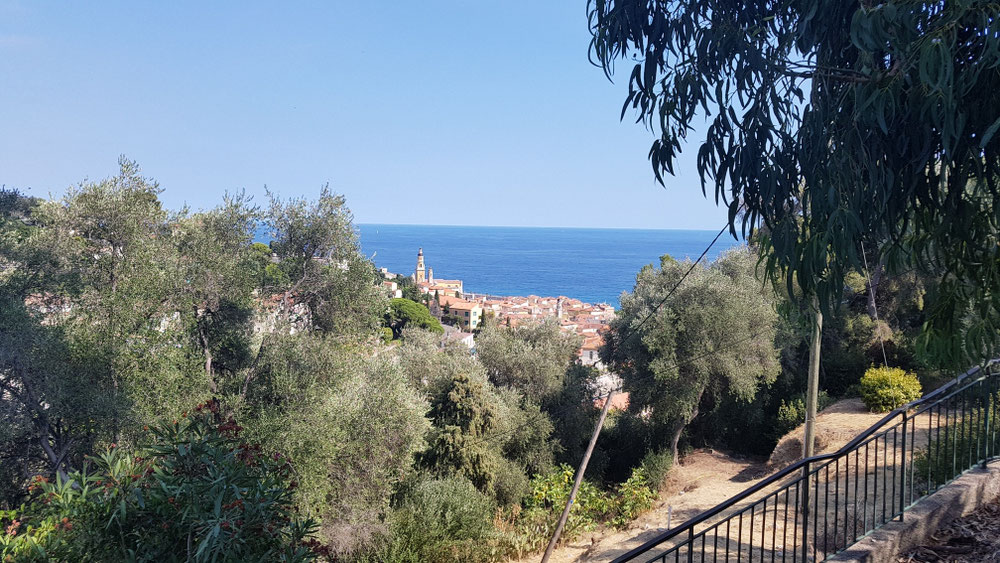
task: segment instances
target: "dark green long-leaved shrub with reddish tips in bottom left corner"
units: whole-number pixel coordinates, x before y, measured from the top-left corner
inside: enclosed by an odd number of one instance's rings
[[[218,403],[114,447],[82,471],[36,477],[31,504],[0,514],[0,559],[309,561],[325,554],[295,515],[293,469],[243,443]]]

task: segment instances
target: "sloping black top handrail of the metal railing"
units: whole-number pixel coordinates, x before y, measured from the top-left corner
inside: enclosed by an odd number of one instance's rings
[[[850,454],[852,452],[855,452],[855,450],[857,450],[860,445],[863,445],[863,443],[865,442],[865,440],[868,440],[873,435],[875,435],[877,432],[879,432],[880,430],[882,430],[885,427],[887,427],[888,423],[890,421],[894,420],[896,417],[903,416],[904,417],[904,421],[905,421],[906,420],[906,413],[908,413],[909,411],[911,411],[915,407],[927,405],[926,409],[918,411],[918,413],[914,413],[914,417],[917,414],[923,413],[924,411],[926,411],[929,408],[933,408],[934,405],[928,405],[928,403],[930,403],[931,401],[939,401],[939,400],[940,401],[945,401],[945,400],[949,399],[954,393],[958,393],[958,392],[960,392],[960,391],[963,390],[963,389],[956,389],[956,387],[959,387],[964,382],[966,382],[970,377],[978,374],[980,371],[982,371],[982,370],[984,370],[984,369],[992,366],[993,364],[995,364],[997,362],[998,362],[998,359],[990,360],[989,362],[986,362],[982,366],[974,367],[974,368],[968,370],[967,372],[959,375],[955,379],[949,381],[945,385],[942,385],[941,387],[937,388],[936,390],[934,390],[934,391],[932,391],[932,392],[930,392],[930,393],[928,393],[928,394],[920,397],[919,399],[911,401],[911,402],[909,402],[909,403],[907,403],[907,404],[905,404],[905,405],[903,405],[903,406],[901,406],[899,408],[896,408],[896,409],[892,410],[891,412],[889,412],[888,414],[886,414],[884,417],[882,417],[882,419],[880,419],[878,422],[876,422],[875,424],[873,424],[872,426],[870,426],[867,430],[865,430],[864,432],[862,432],[861,434],[859,434],[858,436],[856,436],[853,440],[851,440],[850,442],[848,442],[847,444],[845,444],[843,447],[841,447],[837,451],[826,453],[826,454],[815,455],[815,456],[812,456],[812,457],[809,457],[809,458],[801,459],[801,460],[793,463],[792,465],[790,465],[788,467],[785,467],[784,469],[782,469],[782,470],[778,471],[777,473],[771,475],[770,477],[764,479],[760,483],[757,483],[757,484],[755,484],[755,485],[753,485],[753,486],[751,486],[751,487],[743,490],[742,492],[740,492],[740,493],[738,493],[738,494],[730,497],[729,499],[723,501],[722,503],[719,503],[718,505],[714,506],[713,508],[710,508],[710,509],[702,512],[701,514],[699,514],[699,515],[697,515],[697,516],[695,516],[693,518],[688,519],[687,521],[681,523],[680,525],[675,526],[675,527],[673,527],[673,528],[671,528],[671,529],[669,529],[669,530],[667,530],[667,531],[665,531],[665,532],[657,535],[656,537],[654,537],[653,539],[645,542],[641,546],[636,547],[636,548],[628,551],[627,553],[625,553],[625,554],[623,554],[623,555],[615,558],[612,563],[621,563],[621,562],[630,561],[632,559],[635,559],[636,557],[638,557],[638,556],[640,556],[640,555],[642,555],[642,554],[644,554],[644,553],[646,553],[646,552],[648,552],[648,551],[656,548],[657,546],[660,546],[664,542],[667,542],[667,541],[669,541],[669,540],[671,540],[673,538],[676,538],[676,537],[680,536],[683,533],[687,533],[688,536],[689,536],[689,538],[693,539],[693,537],[695,535],[694,534],[694,527],[695,526],[697,526],[697,525],[699,525],[699,524],[701,524],[701,523],[703,523],[703,522],[711,519],[714,516],[717,516],[717,515],[721,514],[725,510],[730,509],[733,506],[735,506],[736,504],[738,504],[740,501],[743,501],[743,500],[745,500],[745,499],[753,496],[754,494],[756,494],[756,493],[764,490],[765,488],[767,488],[767,487],[769,487],[771,485],[775,485],[776,483],[780,482],[785,477],[787,477],[787,476],[789,476],[789,475],[791,475],[793,473],[796,473],[796,472],[802,472],[804,468],[805,468],[806,472],[809,472],[809,468],[810,467],[816,468],[815,472],[818,474],[818,471],[819,471],[819,468],[817,468],[817,464],[818,463],[824,462],[824,461],[837,460],[837,459],[839,459],[841,457],[844,457],[844,456],[846,456],[846,455],[848,455],[848,454]],[[949,392],[951,392],[951,391],[953,391],[953,392],[949,394]],[[949,395],[945,395],[945,394],[949,394]],[[905,427],[904,427],[904,440],[905,440]],[[904,442],[904,444],[905,444],[905,442]],[[829,465],[829,464],[827,464],[827,465]],[[806,485],[806,487],[808,487],[808,484]],[[806,508],[806,510],[808,511],[808,508]]]

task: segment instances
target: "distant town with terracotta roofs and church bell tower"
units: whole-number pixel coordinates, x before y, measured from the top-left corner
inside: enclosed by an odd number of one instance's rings
[[[385,277],[382,286],[391,297],[403,297],[403,284],[412,283],[426,300],[431,314],[445,324],[445,338],[449,340],[460,340],[473,348],[474,331],[487,317],[506,326],[551,318],[559,322],[562,330],[583,338],[579,351],[581,363],[603,367],[598,350],[604,344],[603,333],[615,315],[615,308],[607,303],[584,303],[565,295],[524,297],[466,293],[462,280],[434,276],[434,268],[424,261],[423,248],[417,251],[412,274],[397,274],[386,268],[381,268],[380,272]]]

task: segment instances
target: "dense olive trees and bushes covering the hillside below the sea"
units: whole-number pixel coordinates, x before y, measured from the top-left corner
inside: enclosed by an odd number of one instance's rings
[[[127,160],[56,199],[0,193],[2,557],[486,561],[544,546],[598,414],[578,337],[487,322],[475,355],[442,345],[425,307],[384,295],[326,188],[201,211],[160,193]],[[804,309],[755,264],[740,248],[696,265],[667,301],[690,263],[638,273],[603,351],[630,405],[605,425],[567,538],[626,526],[688,448],[767,454],[801,422]],[[933,375],[912,344],[932,284],[851,279],[823,387],[849,393],[883,342],[894,367]]]

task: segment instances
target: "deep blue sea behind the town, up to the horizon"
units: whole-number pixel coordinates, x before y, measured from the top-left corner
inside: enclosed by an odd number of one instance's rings
[[[380,268],[410,275],[417,249],[434,277],[468,293],[565,295],[618,305],[635,275],[660,256],[697,258],[718,231],[359,225],[361,249]],[[738,244],[722,235],[706,258]]]

